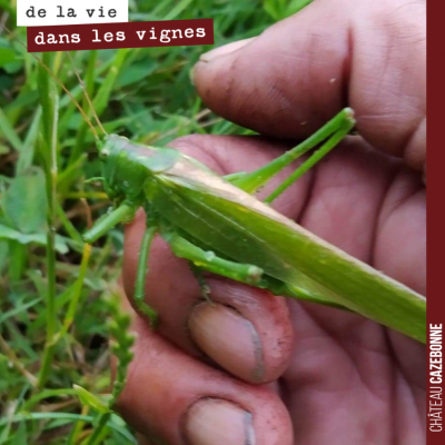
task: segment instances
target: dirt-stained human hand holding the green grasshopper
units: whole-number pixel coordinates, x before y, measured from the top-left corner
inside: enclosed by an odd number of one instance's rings
[[[317,0],[250,41],[205,55],[194,76],[218,115],[281,140],[304,139],[354,108],[360,137],[275,207],[422,294],[425,9],[424,1]],[[253,170],[291,145],[191,136],[174,146],[222,175]],[[129,296],[144,225],[137,218],[126,229]],[[188,265],[161,240],[154,245],[146,294],[161,323],[154,333],[135,316],[136,356],[119,403],[145,443],[425,442],[423,345],[354,314],[208,283],[211,306]]]

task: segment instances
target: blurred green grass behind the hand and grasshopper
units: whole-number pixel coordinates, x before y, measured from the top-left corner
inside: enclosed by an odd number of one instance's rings
[[[219,46],[256,36],[307,2],[130,0],[130,18],[214,18]],[[0,21],[11,29],[14,4],[0,0]],[[26,40],[23,29],[14,32]],[[72,57],[108,132],[156,145],[194,132],[247,134],[206,110],[190,85],[189,71],[207,49]],[[43,59],[88,110],[67,55]],[[102,190],[85,182],[98,167],[76,107],[0,29],[0,444],[136,443],[111,411],[131,359],[129,322],[109,285],[120,274],[123,236],[112,230],[91,251],[80,237],[108,206]],[[111,349],[120,363],[115,388]]]

